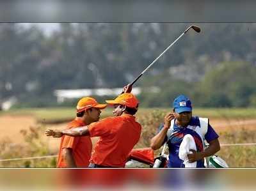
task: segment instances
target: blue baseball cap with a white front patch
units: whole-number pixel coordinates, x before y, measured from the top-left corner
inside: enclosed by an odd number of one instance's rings
[[[192,111],[191,101],[187,96],[179,95],[173,101],[173,108],[177,113],[181,113],[184,111],[191,112]]]

